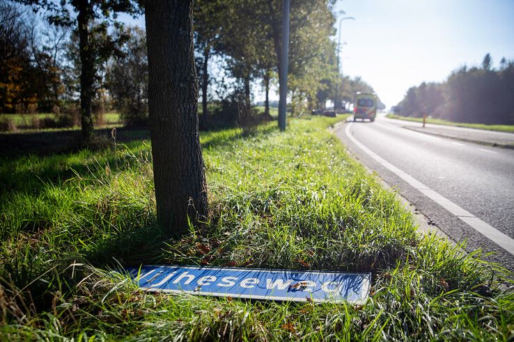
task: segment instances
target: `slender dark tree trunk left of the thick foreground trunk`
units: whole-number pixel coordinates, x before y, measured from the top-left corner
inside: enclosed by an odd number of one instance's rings
[[[79,15],[79,49],[80,49],[80,117],[84,142],[91,142],[93,138],[93,117],[91,117],[91,101],[94,96],[93,82],[95,81],[95,64],[93,51],[89,44],[89,20],[91,18],[91,4],[88,0],[78,3]]]

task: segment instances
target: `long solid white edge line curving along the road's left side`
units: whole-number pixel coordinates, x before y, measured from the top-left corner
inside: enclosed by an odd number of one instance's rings
[[[412,177],[410,174],[407,174],[406,172],[400,170],[399,168],[396,168],[396,166],[392,165],[388,161],[386,161],[381,156],[375,154],[375,152],[371,151],[371,149],[368,149],[368,147],[364,146],[359,140],[357,140],[354,136],[352,136],[352,133],[350,133],[350,127],[352,126],[352,123],[346,125],[345,134],[348,136],[348,138],[355,144],[357,147],[362,149],[368,156],[371,156],[371,158],[375,159],[377,163],[380,163],[384,168],[387,168],[387,170],[393,172],[396,174],[396,176],[400,177],[404,181],[407,182],[407,184],[410,184],[410,186],[414,187],[416,190],[419,190],[423,195],[426,197],[432,199],[435,203],[442,206],[444,209],[455,215],[457,218],[465,222],[467,225],[481,233],[483,236],[488,238],[490,241],[496,243],[500,247],[502,247],[507,252],[514,255],[514,239],[506,236],[498,229],[492,227],[491,225],[488,225],[488,223],[483,222],[483,220],[477,218],[472,213],[469,213],[469,211],[463,209],[462,207],[458,206],[458,204],[455,204],[451,202],[449,199],[444,197],[443,195],[439,195],[439,193],[436,193],[434,190],[428,188],[425,184],[421,183],[421,181],[418,181],[414,177]],[[484,150],[488,151],[488,150]],[[490,151],[488,151],[490,152]],[[496,153],[496,152],[494,152]]]

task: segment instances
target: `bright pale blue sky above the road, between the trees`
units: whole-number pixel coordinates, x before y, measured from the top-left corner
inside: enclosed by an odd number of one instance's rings
[[[388,107],[488,52],[495,67],[514,59],[513,0],[339,0],[335,10],[355,17],[342,24],[343,73],[361,76]]]

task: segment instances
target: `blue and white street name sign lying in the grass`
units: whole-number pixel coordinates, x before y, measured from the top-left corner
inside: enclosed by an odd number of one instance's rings
[[[297,302],[362,303],[371,283],[370,273],[186,266],[141,266],[128,272],[146,291]]]

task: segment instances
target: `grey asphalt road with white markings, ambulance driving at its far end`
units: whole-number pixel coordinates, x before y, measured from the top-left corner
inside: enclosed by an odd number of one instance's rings
[[[489,260],[514,270],[514,149],[404,125],[382,117],[346,123],[336,135],[453,241],[494,252]]]

